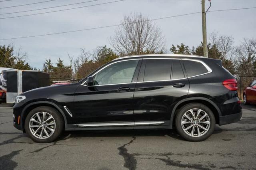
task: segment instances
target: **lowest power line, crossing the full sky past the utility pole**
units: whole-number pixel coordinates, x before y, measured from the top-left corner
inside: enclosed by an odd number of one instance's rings
[[[256,7],[252,7],[256,8]],[[213,11],[208,11],[208,12],[217,12],[217,11],[231,11],[231,10],[245,10],[245,9],[252,9],[252,8],[236,8],[236,9],[228,9],[228,10],[213,10]],[[187,16],[187,15],[192,15],[192,14],[199,14],[201,12],[193,12],[193,13],[188,13],[188,14],[181,14],[181,15],[176,15],[176,16],[167,16],[167,17],[162,17],[162,18],[155,18],[151,20],[146,20],[146,21],[153,21],[153,20],[162,20],[166,18],[175,18],[179,16]],[[136,22],[131,22],[128,24],[133,24]],[[70,32],[80,32],[80,31],[87,31],[87,30],[96,30],[100,28],[108,28],[108,27],[115,27],[115,26],[122,26],[125,24],[116,24],[116,25],[110,25],[110,26],[102,26],[102,27],[94,27],[94,28],[87,28],[87,29],[82,29],[82,30],[73,30],[73,31],[67,31],[67,32],[57,32],[57,33],[49,33],[49,34],[41,34],[41,35],[36,35],[36,36],[24,36],[24,37],[16,37],[16,38],[6,38],[6,39],[0,39],[0,40],[12,40],[12,39],[20,39],[20,38],[31,38],[31,37],[40,37],[40,36],[50,36],[50,35],[55,35],[55,34],[65,34],[65,33],[70,33]]]

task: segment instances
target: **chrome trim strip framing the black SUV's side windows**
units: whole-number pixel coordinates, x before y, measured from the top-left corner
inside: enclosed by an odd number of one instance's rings
[[[136,55],[137,56],[137,55]],[[139,56],[149,56],[149,55],[139,55]],[[154,56],[154,55],[150,55],[150,56]],[[155,55],[155,56],[159,56],[159,55]],[[166,55],[166,56],[170,56],[170,55]],[[177,55],[175,55],[177,56]],[[182,55],[182,56],[193,56],[193,55]],[[189,78],[192,78],[192,77],[197,77],[197,76],[200,76],[200,75],[205,75],[205,74],[208,74],[208,73],[212,73],[212,69],[206,64],[204,63],[204,61],[201,61],[201,60],[198,60],[198,59],[182,59],[182,58],[160,58],[160,57],[155,57],[155,58],[139,58],[139,59],[126,59],[126,60],[121,60],[121,61],[130,61],[130,60],[141,60],[141,59],[176,59],[176,60],[188,60],[188,61],[196,61],[196,62],[199,62],[201,63],[202,65],[204,65],[204,67],[208,70],[207,73],[203,73],[203,74],[199,74],[199,75],[194,75],[194,76],[191,76],[191,77],[185,77],[185,78],[182,78],[182,79],[189,79]],[[116,59],[114,59],[116,60]],[[114,61],[113,60],[113,61]],[[108,65],[106,65],[105,67],[103,67],[102,69],[108,67],[109,65],[112,65],[114,63],[118,63],[118,62],[121,62],[121,61],[116,61],[116,62],[113,62],[113,63],[110,63]],[[100,69],[99,71],[97,71],[96,73],[94,73],[92,76],[96,75],[98,72],[100,72],[102,69]],[[118,84],[108,84],[108,85],[122,85],[122,84],[134,84],[134,83],[150,83],[150,82],[162,82],[162,81],[175,81],[175,80],[182,80],[182,79],[171,79],[171,80],[157,80],[157,81],[138,81],[138,82],[131,82],[131,83],[118,83]],[[84,83],[86,83],[86,81],[84,81]],[[86,87],[89,87],[88,85],[85,85],[84,83],[82,83],[81,85],[84,85]],[[106,86],[106,85],[93,85],[93,86],[90,86],[90,87],[96,87],[96,86]]]

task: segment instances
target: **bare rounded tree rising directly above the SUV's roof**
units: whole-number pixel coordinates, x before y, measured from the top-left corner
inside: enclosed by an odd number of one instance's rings
[[[110,44],[119,55],[151,54],[163,51],[164,36],[148,17],[134,13],[124,16]]]

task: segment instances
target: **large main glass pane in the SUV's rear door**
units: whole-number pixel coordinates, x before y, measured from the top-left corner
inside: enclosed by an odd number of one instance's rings
[[[146,59],[144,81],[170,80],[171,59]]]

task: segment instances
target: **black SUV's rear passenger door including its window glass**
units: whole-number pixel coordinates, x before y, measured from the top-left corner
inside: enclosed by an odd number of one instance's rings
[[[135,124],[170,125],[172,105],[188,89],[180,59],[144,58],[134,92]]]

